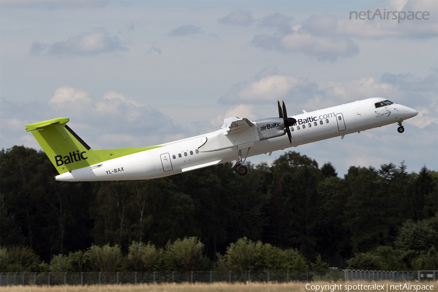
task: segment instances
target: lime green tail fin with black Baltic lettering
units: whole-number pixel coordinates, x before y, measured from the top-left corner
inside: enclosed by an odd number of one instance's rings
[[[57,118],[26,126],[49,157],[59,174],[125,155],[162,147],[135,147],[93,150],[66,124],[68,118]]]

